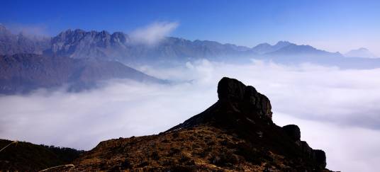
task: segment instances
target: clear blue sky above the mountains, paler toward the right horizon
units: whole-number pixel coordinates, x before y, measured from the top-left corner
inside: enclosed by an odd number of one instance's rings
[[[380,1],[16,1],[1,0],[0,23],[123,31],[178,22],[171,34],[254,46],[289,40],[330,51],[368,47],[380,55]]]

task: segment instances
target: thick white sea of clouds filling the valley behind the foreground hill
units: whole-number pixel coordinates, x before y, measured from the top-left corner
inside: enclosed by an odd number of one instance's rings
[[[274,122],[298,125],[301,139],[326,151],[330,170],[377,169],[380,69],[206,59],[139,69],[173,83],[113,80],[80,93],[40,89],[26,96],[1,96],[0,137],[89,150],[105,139],[157,134],[215,103],[218,81],[228,76],[268,96]]]

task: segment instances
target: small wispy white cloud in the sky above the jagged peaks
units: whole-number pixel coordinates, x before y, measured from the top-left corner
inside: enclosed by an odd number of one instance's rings
[[[155,22],[144,28],[138,28],[130,33],[130,37],[137,43],[155,45],[165,36],[172,33],[178,27],[177,22]]]

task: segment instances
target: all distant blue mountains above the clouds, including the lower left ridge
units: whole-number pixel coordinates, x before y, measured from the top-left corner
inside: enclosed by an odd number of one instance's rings
[[[0,25],[0,94],[65,84],[72,90],[81,90],[113,78],[164,82],[131,67],[141,64],[165,67],[196,59],[247,62],[254,58],[281,64],[308,62],[350,69],[380,67],[380,59],[361,58],[372,57],[367,49],[354,50],[345,56],[287,41],[244,47],[167,37],[156,45],[145,45],[121,32],[80,29],[66,30],[51,38],[30,38]]]

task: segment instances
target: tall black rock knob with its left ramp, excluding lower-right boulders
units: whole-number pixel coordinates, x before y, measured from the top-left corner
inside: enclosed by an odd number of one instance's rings
[[[210,108],[189,120],[172,127],[172,130],[211,124],[218,127],[250,127],[259,120],[266,125],[272,122],[272,105],[269,98],[253,86],[245,86],[237,79],[223,77],[218,82],[218,101]],[[244,126],[245,125],[245,126]]]

